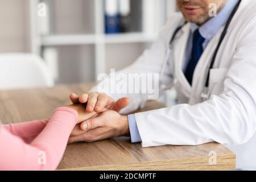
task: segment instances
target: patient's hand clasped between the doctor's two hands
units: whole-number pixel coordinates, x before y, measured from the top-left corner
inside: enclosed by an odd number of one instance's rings
[[[77,123],[81,123],[83,121],[86,121],[87,119],[90,119],[92,117],[96,117],[97,116],[97,113],[92,111],[92,112],[87,112],[85,111],[85,105],[82,105],[82,104],[73,104],[73,105],[68,105],[68,106],[65,106],[65,107],[68,107],[70,109],[74,109],[77,111],[78,113],[78,117],[77,117]]]

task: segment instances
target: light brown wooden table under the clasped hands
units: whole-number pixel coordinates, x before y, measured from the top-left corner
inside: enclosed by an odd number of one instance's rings
[[[59,85],[55,88],[0,91],[2,123],[17,123],[50,117],[67,105],[69,93],[88,92],[92,85]],[[148,102],[144,110],[163,107]],[[209,164],[209,152],[217,154],[217,164]],[[128,137],[94,143],[69,144],[58,169],[64,170],[228,170],[236,167],[236,155],[217,143],[200,146],[160,146],[142,148]]]

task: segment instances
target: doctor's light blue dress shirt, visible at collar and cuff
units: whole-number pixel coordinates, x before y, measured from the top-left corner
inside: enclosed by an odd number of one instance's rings
[[[210,42],[210,40],[217,34],[221,27],[224,27],[226,22],[229,19],[229,16],[232,14],[234,7],[236,7],[239,0],[229,0],[225,7],[217,14],[210,18],[207,22],[205,22],[201,27],[197,26],[195,23],[191,23],[191,34],[189,36],[186,48],[186,60],[183,67],[183,72],[185,72],[185,68],[187,68],[188,61],[191,57],[192,51],[192,39],[193,39],[193,32],[199,28],[199,32],[205,41],[203,43],[203,48],[205,49]],[[137,127],[136,119],[134,114],[128,115],[129,127],[130,127],[130,135],[131,135],[131,142],[137,143],[141,142],[141,136],[139,135],[139,130]]]

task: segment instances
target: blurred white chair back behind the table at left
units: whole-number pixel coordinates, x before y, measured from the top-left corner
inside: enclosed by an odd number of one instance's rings
[[[0,89],[51,87],[54,81],[46,63],[28,53],[0,54]]]

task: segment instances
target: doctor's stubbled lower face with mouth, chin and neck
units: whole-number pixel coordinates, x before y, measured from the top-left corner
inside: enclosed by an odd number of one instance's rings
[[[185,20],[196,23],[199,26],[212,18],[212,16],[209,15],[209,5],[211,3],[216,5],[216,11],[218,13],[227,2],[228,0],[176,0],[177,7],[183,14]]]

